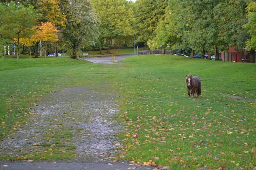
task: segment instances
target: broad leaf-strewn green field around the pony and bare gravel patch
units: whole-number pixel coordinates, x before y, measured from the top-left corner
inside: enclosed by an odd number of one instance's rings
[[[108,65],[64,58],[13,62],[0,60],[1,138],[26,124],[28,107],[45,94],[106,84],[120,96],[126,129],[119,134],[124,145],[118,158],[170,169],[256,167],[255,64],[172,55],[136,56]],[[201,98],[188,98],[186,74],[202,79]]]

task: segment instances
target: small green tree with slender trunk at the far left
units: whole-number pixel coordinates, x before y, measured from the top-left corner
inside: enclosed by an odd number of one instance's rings
[[[20,38],[29,37],[32,27],[36,25],[39,14],[31,7],[24,7],[10,2],[7,5],[0,4],[4,12],[0,13],[0,34],[8,38],[17,39],[17,59],[19,59]]]

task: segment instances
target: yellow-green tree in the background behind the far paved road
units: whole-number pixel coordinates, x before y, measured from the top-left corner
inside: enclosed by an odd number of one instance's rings
[[[105,45],[109,49],[114,40],[133,37],[134,16],[131,3],[127,0],[92,0],[100,18],[100,53]]]

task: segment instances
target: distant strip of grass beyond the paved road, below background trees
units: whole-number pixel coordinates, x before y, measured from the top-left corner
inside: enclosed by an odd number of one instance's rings
[[[139,48],[139,51],[145,50],[144,48]],[[92,56],[100,56],[99,51],[86,51],[85,53],[88,53]],[[136,49],[137,53],[137,49]],[[110,49],[110,53],[107,53],[107,50],[102,50],[102,55],[128,55],[128,54],[134,54],[134,49]]]

